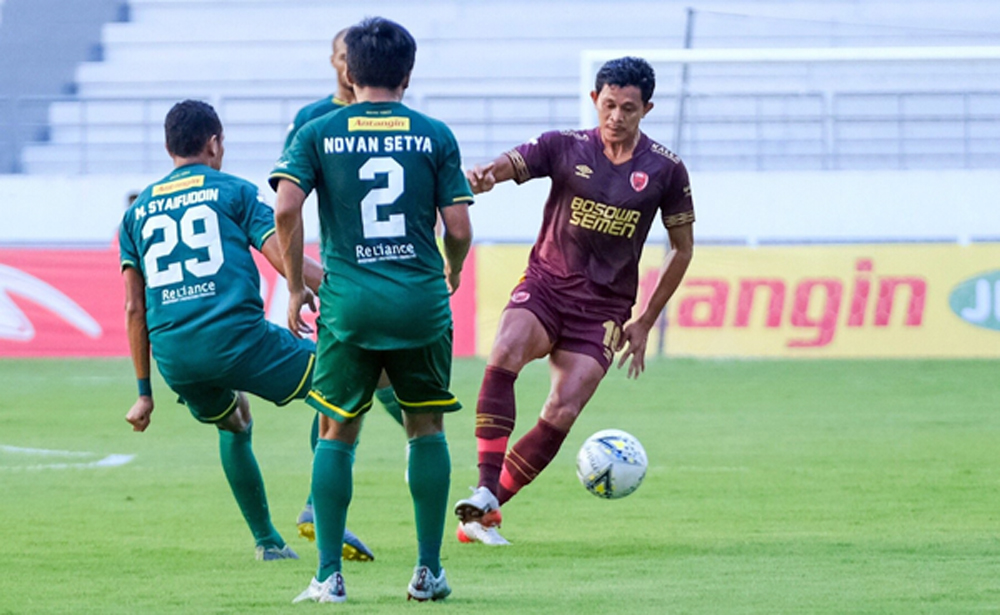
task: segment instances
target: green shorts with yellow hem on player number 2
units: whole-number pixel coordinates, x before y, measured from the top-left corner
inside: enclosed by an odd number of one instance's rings
[[[306,403],[338,421],[364,414],[384,369],[406,412],[454,412],[462,407],[451,384],[451,327],[419,348],[367,350],[338,340],[317,321],[316,370]]]

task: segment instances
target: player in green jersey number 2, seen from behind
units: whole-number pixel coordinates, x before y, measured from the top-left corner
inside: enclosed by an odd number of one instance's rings
[[[354,447],[384,369],[404,410],[418,555],[410,598],[451,593],[441,567],[451,460],[443,414],[449,392],[449,294],[472,240],[472,192],[454,135],[403,105],[416,43],[399,24],[369,18],[346,36],[357,102],[299,131],[271,174],[288,274],[289,328],[309,328],[313,305],[302,268],[302,205],[319,197],[321,253],[316,374],[307,403],[322,413],[313,460],[319,567],[296,598],[346,600],[340,550],[352,493]],[[444,259],[434,238],[444,221]]]

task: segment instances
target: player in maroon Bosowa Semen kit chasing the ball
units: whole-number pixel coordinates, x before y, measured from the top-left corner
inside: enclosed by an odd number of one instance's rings
[[[552,179],[542,228],[524,278],[511,293],[476,406],[479,486],[455,505],[462,542],[509,544],[496,528],[500,506],[559,451],[618,350],[628,376],[645,369],[649,330],[680,285],[694,247],[694,205],[681,160],[639,130],[653,108],[653,68],[611,60],[591,98],[598,126],[547,132],[467,172],[474,193],[498,182]],[[671,250],[648,305],[631,320],[639,257],[659,215]],[[552,388],[538,423],[508,450],[514,381],[549,358]]]

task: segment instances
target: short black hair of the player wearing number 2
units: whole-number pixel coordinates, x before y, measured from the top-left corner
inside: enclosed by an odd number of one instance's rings
[[[394,21],[366,17],[352,26],[344,37],[347,69],[355,85],[387,88],[401,86],[413,70],[417,42]]]

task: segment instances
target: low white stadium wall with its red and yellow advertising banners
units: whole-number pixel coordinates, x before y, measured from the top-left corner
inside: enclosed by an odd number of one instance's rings
[[[115,232],[128,192],[155,179],[0,180],[0,356],[127,353]],[[713,173],[693,183],[697,254],[651,347],[708,357],[1000,355],[995,173]],[[473,208],[474,262],[453,304],[458,354],[488,352],[546,189],[502,185]],[[640,302],[663,243],[660,232],[647,247]],[[284,285],[261,269],[269,318],[282,322]]]

